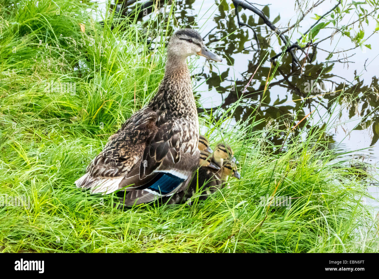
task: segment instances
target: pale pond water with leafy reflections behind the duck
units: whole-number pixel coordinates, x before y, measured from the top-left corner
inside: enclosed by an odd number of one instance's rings
[[[278,15],[280,19],[275,23],[276,27],[285,28],[292,25],[298,19],[300,14],[299,10],[294,8],[295,0],[292,1],[270,1],[271,5],[265,7],[266,14],[269,13],[269,19],[273,21]],[[270,70],[271,63],[265,58],[273,57],[283,49],[284,44],[280,45],[276,36],[271,36],[272,31],[266,27],[263,22],[258,20],[258,16],[249,10],[240,11],[240,19],[243,22],[248,20],[249,24],[256,28],[258,41],[260,42],[260,50],[257,50],[257,42],[254,40],[252,31],[247,27],[238,28],[237,20],[233,14],[233,9],[230,6],[231,1],[203,1],[203,0],[185,0],[176,1],[177,11],[175,17],[179,24],[188,24],[196,22],[196,25],[187,25],[187,27],[196,27],[202,36],[205,36],[205,43],[210,48],[215,49],[218,54],[224,58],[222,63],[210,64],[204,59],[196,61],[198,69],[203,69],[201,76],[195,80],[195,94],[200,96],[200,103],[205,109],[212,107],[219,107],[225,109],[239,98],[242,98],[243,105],[241,109],[237,109],[232,115],[235,120],[243,118],[244,115],[250,113],[257,108],[260,101],[262,101],[262,93],[266,82],[266,77]],[[267,1],[255,0],[257,8],[262,9]],[[220,5],[219,5],[220,4]],[[304,17],[301,21],[299,29],[293,29],[294,33],[291,41],[295,42],[300,38],[299,32],[307,30],[315,20],[314,14],[324,14],[335,3],[326,1],[322,5],[316,7],[312,12]],[[105,13],[104,2],[100,5],[100,13]],[[148,16],[147,16],[148,17]],[[356,19],[353,11],[339,23],[348,24]],[[328,25],[333,27],[333,25]],[[376,21],[370,20],[369,24],[363,23],[363,29],[366,34],[372,32],[376,27]],[[299,31],[299,32],[298,32]],[[322,29],[316,38],[326,38],[332,33],[332,28]],[[359,24],[354,25],[354,30],[351,32],[359,31]],[[288,35],[291,35],[288,33]],[[265,93],[265,99],[259,107],[259,119],[278,119],[279,123],[291,123],[292,121],[299,121],[312,110],[316,109],[317,112],[313,113],[312,117],[317,123],[319,120],[329,118],[330,107],[337,102],[340,92],[329,93],[323,97],[309,99],[307,104],[302,108],[302,113],[294,119],[294,115],[300,110],[302,101],[292,101],[304,98],[308,93],[304,93],[307,83],[312,80],[321,78],[325,81],[326,87],[324,89],[331,89],[329,91],[341,90],[345,88],[345,92],[352,93],[351,99],[344,101],[340,100],[339,109],[332,113],[332,118],[336,119],[335,123],[339,123],[335,128],[330,129],[329,138],[334,143],[335,147],[344,150],[357,150],[367,148],[356,152],[351,157],[359,158],[364,162],[370,162],[376,168],[376,163],[379,158],[379,147],[377,141],[379,139],[379,112],[376,107],[379,106],[379,86],[376,77],[377,68],[379,66],[379,50],[376,47],[378,41],[378,34],[374,34],[369,38],[365,44],[371,44],[372,50],[366,47],[361,49],[357,47],[353,50],[346,52],[345,58],[343,54],[335,54],[330,60],[341,59],[341,62],[327,63],[328,52],[323,50],[313,50],[312,48],[306,49],[309,56],[313,59],[310,63],[305,63],[305,69],[299,74],[291,73],[291,56],[286,54],[283,60],[279,62],[279,67],[283,75],[277,71],[275,78],[271,81],[271,86]],[[350,49],[354,44],[346,36],[341,36],[340,33],[334,35],[332,40],[327,39],[320,43],[321,49],[330,51],[340,51],[341,49]],[[301,51],[296,52],[301,55]],[[349,57],[352,55],[351,57]],[[304,55],[301,56],[303,61]],[[265,62],[260,65],[252,78],[250,84],[248,80],[251,79],[252,74],[257,69],[260,61]],[[346,62],[348,61],[348,62]],[[324,70],[323,70],[324,69]],[[319,73],[323,73],[319,75]],[[196,71],[196,74],[198,71]],[[290,75],[289,75],[290,74]],[[287,77],[288,76],[288,77]],[[359,76],[359,78],[357,78]],[[221,79],[220,79],[221,77]],[[287,79],[287,80],[286,80]],[[354,79],[356,79],[354,81]],[[232,91],[233,85],[235,91]],[[322,86],[322,85],[321,85]],[[246,92],[241,96],[241,93],[246,87]],[[371,89],[370,89],[371,88]],[[376,89],[372,89],[376,88]],[[367,93],[366,91],[371,91]],[[323,93],[311,93],[310,96],[315,96]],[[354,99],[354,100],[353,100]],[[321,102],[321,105],[319,105]],[[299,125],[302,127],[304,123]],[[257,129],[262,129],[266,122],[257,126]],[[272,142],[276,145],[282,143],[282,138],[272,138]],[[374,169],[373,168],[373,169]],[[377,177],[377,174],[376,174]],[[368,191],[378,198],[378,187],[373,185],[368,188]],[[375,200],[368,200],[367,202],[373,203],[379,207],[379,203]]]

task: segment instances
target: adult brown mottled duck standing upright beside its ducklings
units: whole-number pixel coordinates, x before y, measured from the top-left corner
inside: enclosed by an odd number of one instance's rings
[[[186,188],[199,164],[199,120],[186,64],[195,54],[222,61],[195,30],[172,35],[157,94],[109,137],[86,174],[75,181],[78,187],[103,194],[126,187],[125,205],[151,202]]]

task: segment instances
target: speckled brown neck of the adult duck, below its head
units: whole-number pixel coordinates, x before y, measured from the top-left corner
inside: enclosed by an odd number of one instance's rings
[[[191,77],[185,58],[169,55],[164,77],[149,105],[155,110],[169,109],[179,115],[189,112],[197,115]]]

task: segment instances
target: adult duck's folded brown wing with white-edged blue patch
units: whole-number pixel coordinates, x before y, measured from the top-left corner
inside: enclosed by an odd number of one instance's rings
[[[121,183],[131,184],[138,175],[139,181],[143,181],[125,189],[125,205],[152,202],[186,188],[199,164],[199,151],[197,146],[186,146],[188,143],[180,141],[181,132],[175,123],[168,122],[149,138],[139,172],[128,173]]]

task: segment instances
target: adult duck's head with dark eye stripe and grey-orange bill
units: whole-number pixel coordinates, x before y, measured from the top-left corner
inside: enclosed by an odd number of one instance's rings
[[[185,60],[190,55],[201,55],[214,61],[222,61],[222,58],[211,52],[203,43],[199,32],[193,29],[180,29],[171,36],[168,47],[168,57],[176,57]]]

